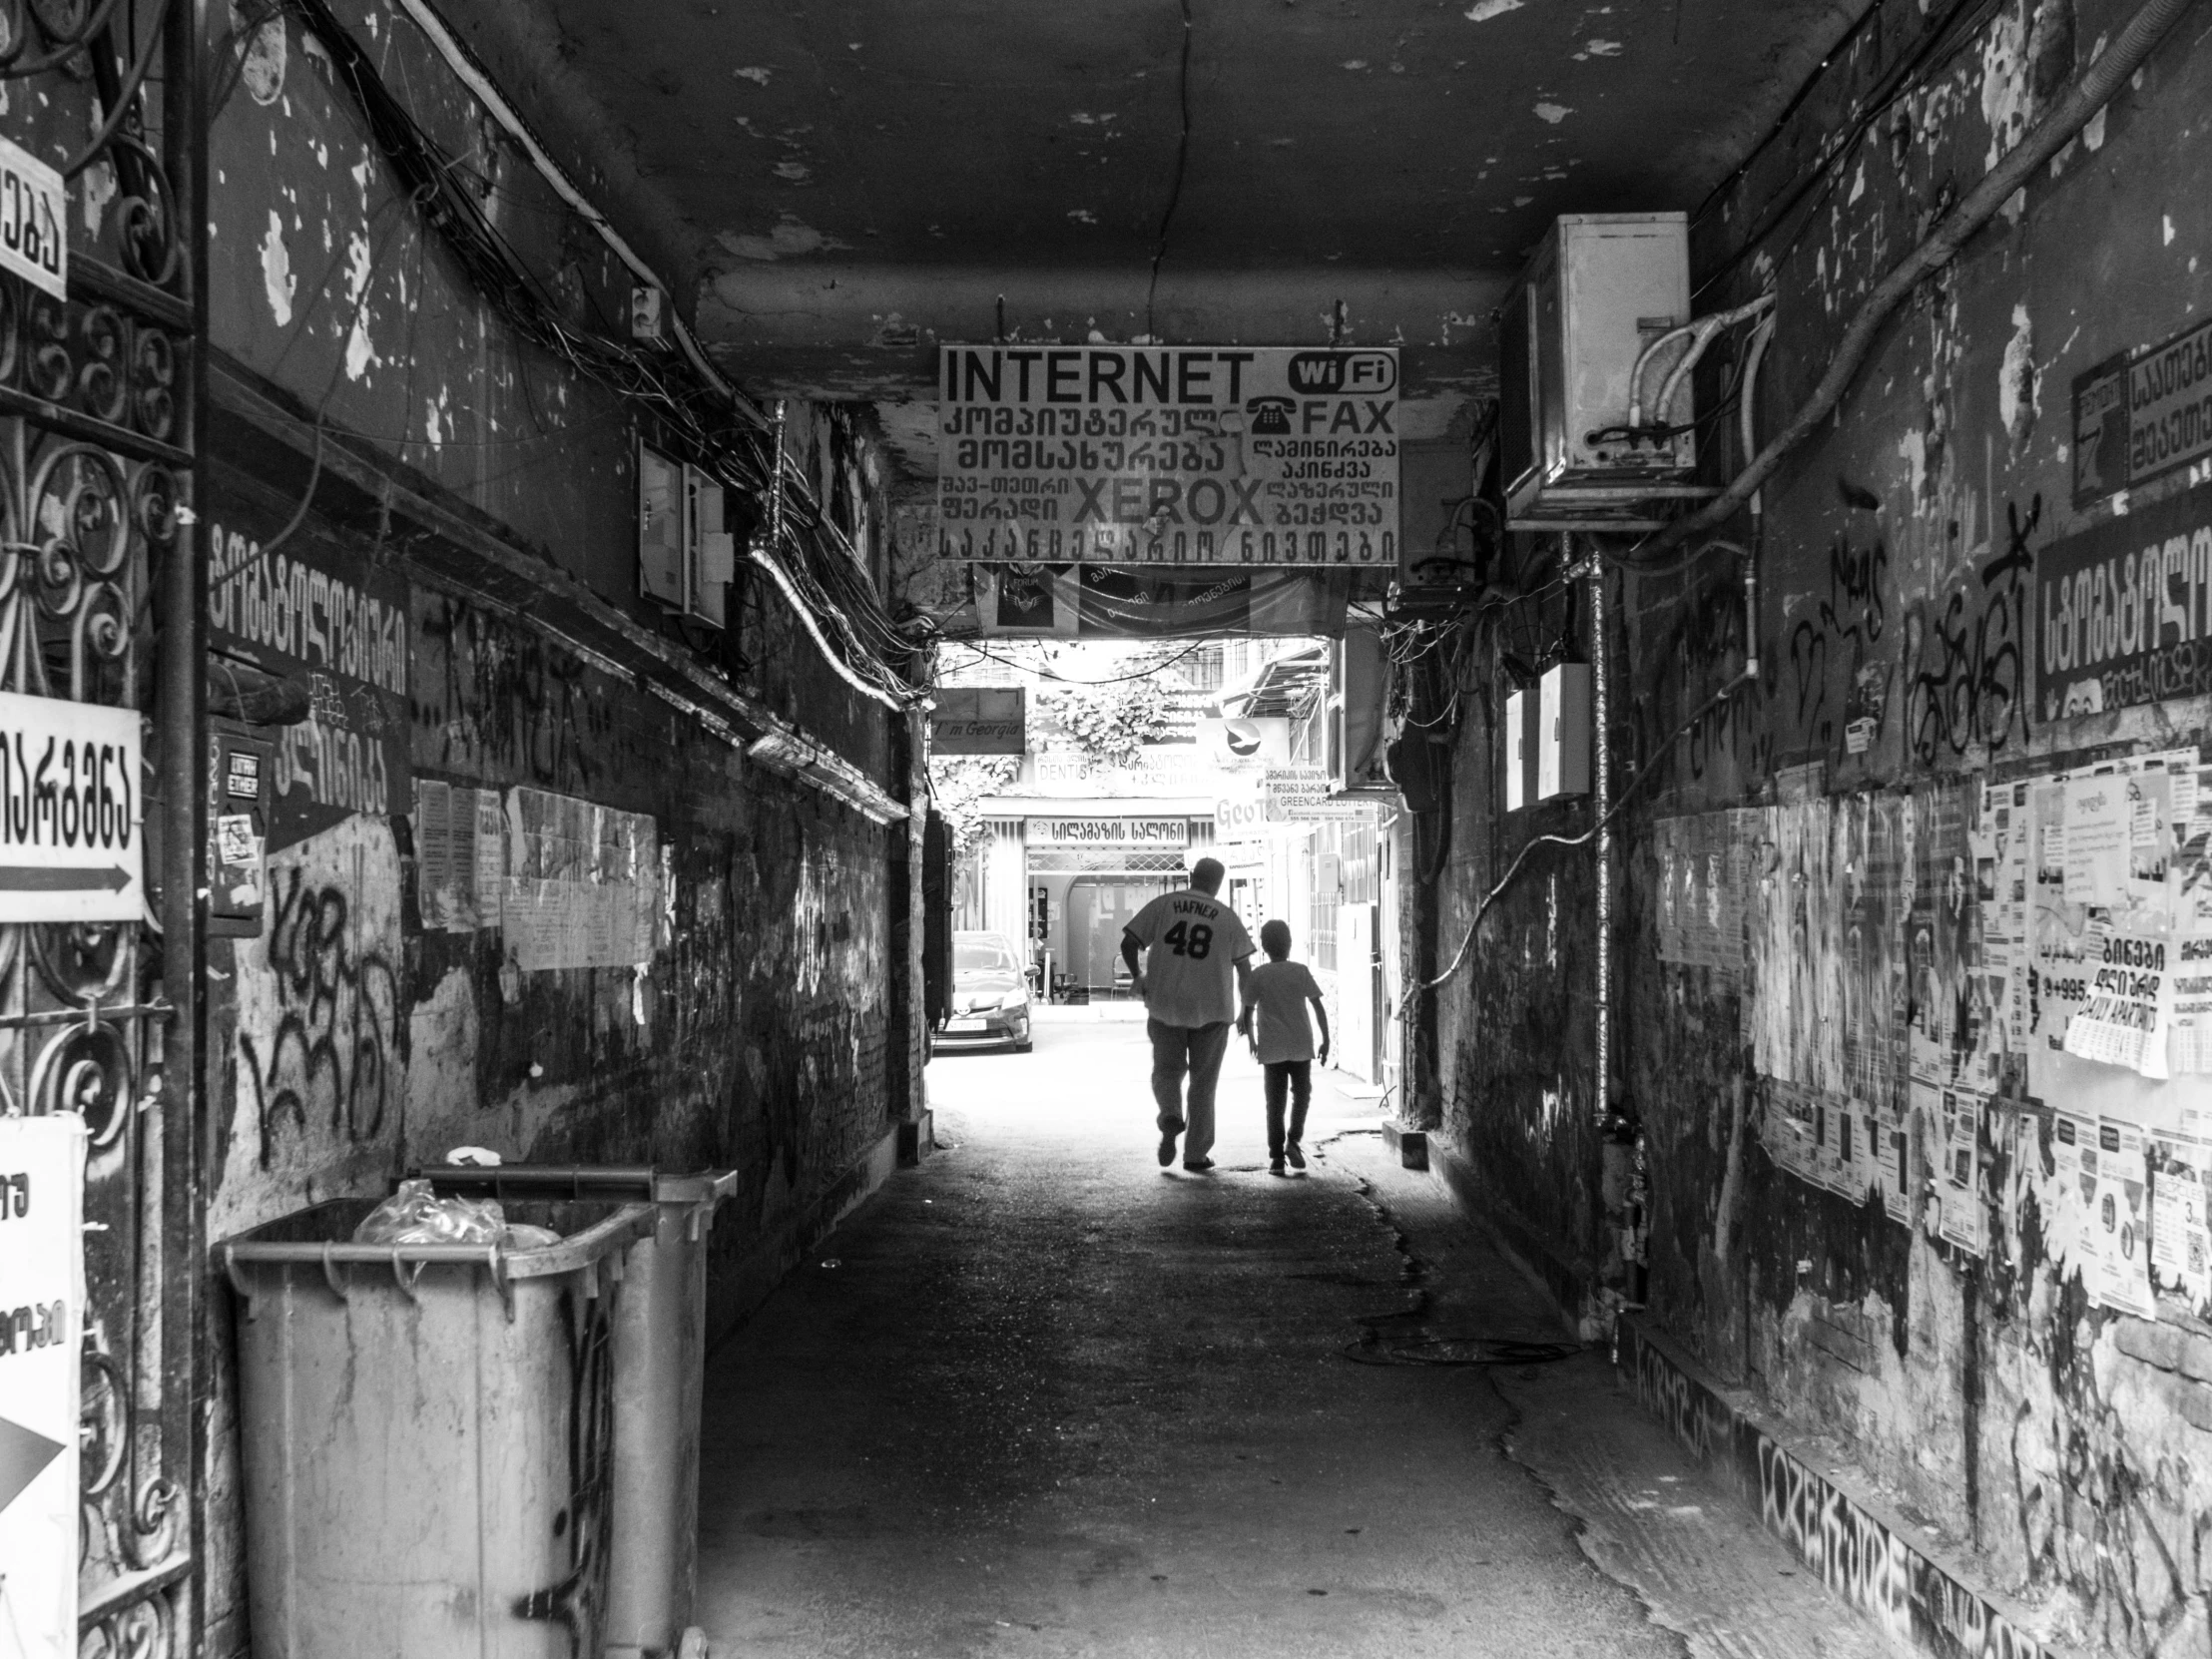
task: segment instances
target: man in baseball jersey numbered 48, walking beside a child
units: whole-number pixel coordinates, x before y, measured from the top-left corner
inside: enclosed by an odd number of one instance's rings
[[[1237,995],[1252,975],[1252,936],[1221,891],[1219,858],[1190,867],[1190,887],[1161,894],[1121,929],[1121,960],[1144,995],[1152,1037],[1152,1099],[1159,1102],[1159,1164],[1175,1164],[1175,1137],[1186,1128],[1183,1168],[1210,1170],[1214,1084],[1230,1046]],[[1148,951],[1137,967],[1137,951]],[[1183,1099],[1183,1075],[1190,1099]]]

